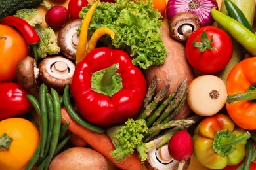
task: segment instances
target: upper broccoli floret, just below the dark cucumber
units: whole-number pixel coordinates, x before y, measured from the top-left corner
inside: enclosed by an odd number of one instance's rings
[[[43,23],[43,17],[39,14],[38,10],[35,8],[17,10],[14,16],[18,18],[22,18],[23,20],[28,22],[28,24],[30,24],[32,27],[35,27]]]

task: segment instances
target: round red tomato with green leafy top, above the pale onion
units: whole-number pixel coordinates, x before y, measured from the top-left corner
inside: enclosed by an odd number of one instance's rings
[[[188,63],[203,73],[215,73],[223,69],[230,61],[232,53],[231,38],[218,27],[200,27],[186,42]]]

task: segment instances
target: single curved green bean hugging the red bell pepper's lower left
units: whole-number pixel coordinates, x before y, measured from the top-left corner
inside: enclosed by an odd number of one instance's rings
[[[72,104],[70,103],[70,97],[69,97],[69,89],[70,86],[66,85],[64,92],[63,92],[63,98],[64,98],[64,105],[66,107],[66,109],[68,110],[68,114],[70,114],[70,117],[75,120],[75,122],[77,122],[78,124],[80,124],[81,126],[90,129],[91,131],[95,131],[98,133],[104,133],[104,129],[95,126],[93,124],[90,124],[89,122],[83,120],[83,118],[81,118],[77,112],[75,112]]]

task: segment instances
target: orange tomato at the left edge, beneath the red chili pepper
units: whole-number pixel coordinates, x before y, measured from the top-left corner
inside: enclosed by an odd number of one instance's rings
[[[16,65],[28,56],[28,45],[18,31],[0,24],[0,82],[16,78]]]

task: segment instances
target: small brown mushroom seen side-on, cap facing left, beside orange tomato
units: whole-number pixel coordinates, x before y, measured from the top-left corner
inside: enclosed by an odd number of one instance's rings
[[[27,56],[18,61],[16,67],[16,77],[18,83],[26,89],[32,89],[37,86],[39,69],[34,58]]]

